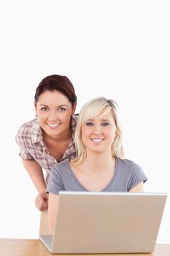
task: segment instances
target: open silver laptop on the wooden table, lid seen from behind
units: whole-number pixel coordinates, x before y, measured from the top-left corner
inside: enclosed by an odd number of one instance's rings
[[[150,253],[166,193],[60,192],[53,236],[39,238],[52,254]]]

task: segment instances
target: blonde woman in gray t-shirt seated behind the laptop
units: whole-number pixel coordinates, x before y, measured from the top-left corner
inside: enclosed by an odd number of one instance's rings
[[[50,174],[50,233],[60,191],[142,192],[147,181],[139,165],[123,159],[122,131],[113,100],[98,97],[84,105],[74,140],[77,158],[54,165]]]

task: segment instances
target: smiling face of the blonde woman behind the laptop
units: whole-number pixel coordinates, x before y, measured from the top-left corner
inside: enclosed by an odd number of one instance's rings
[[[82,141],[87,153],[88,151],[96,153],[109,151],[112,154],[112,143],[117,135],[115,119],[112,110],[104,115],[101,114],[82,124]]]

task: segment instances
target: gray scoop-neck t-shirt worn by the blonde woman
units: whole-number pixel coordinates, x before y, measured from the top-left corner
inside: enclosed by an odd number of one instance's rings
[[[131,160],[116,158],[115,173],[102,191],[128,192],[140,182],[147,181],[143,170]],[[53,166],[47,192],[58,195],[60,191],[88,191],[74,175],[69,159]]]

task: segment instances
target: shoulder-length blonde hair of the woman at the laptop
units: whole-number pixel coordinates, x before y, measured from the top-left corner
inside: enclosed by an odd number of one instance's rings
[[[80,111],[80,115],[77,121],[77,127],[75,130],[74,135],[74,142],[75,146],[77,148],[77,158],[73,159],[74,162],[82,162],[86,155],[86,147],[85,144],[82,141],[82,124],[85,124],[86,121],[89,119],[93,119],[96,116],[98,116],[100,113],[102,113],[102,116],[109,112],[109,110],[112,110],[113,118],[115,119],[115,125],[116,125],[116,138],[114,142],[112,143],[112,156],[113,157],[119,157],[120,159],[123,159],[122,156],[122,130],[120,128],[120,124],[117,118],[117,109],[116,109],[117,103],[112,99],[105,99],[104,97],[97,97],[95,99],[91,99],[89,102],[87,102]]]

